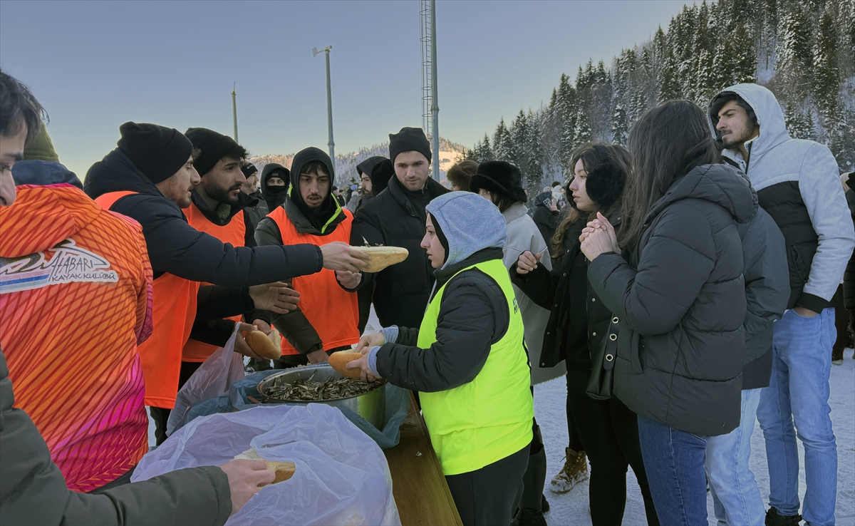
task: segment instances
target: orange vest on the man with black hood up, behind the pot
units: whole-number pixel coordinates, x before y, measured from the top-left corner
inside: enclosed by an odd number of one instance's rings
[[[324,236],[310,233],[298,233],[285,212],[285,207],[278,207],[270,212],[268,217],[276,222],[282,236],[282,245],[297,245],[311,243],[327,245],[333,241],[351,241],[351,225],[353,214],[350,210],[341,209],[345,221],[336,226],[333,233]],[[300,310],[321,337],[325,350],[341,346],[350,346],[359,341],[359,302],[357,293],[348,293],[341,288],[335,279],[335,272],[321,269],[312,275],[303,275],[292,280],[292,288],[300,293]],[[282,338],[282,354],[299,354],[288,340]]]

